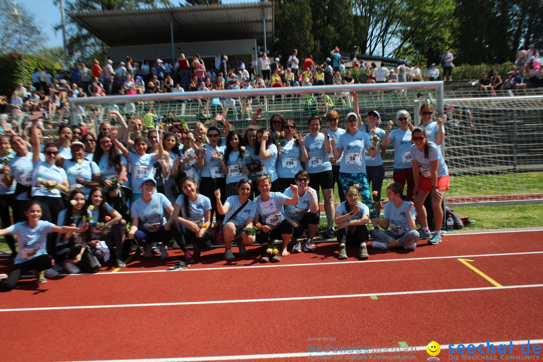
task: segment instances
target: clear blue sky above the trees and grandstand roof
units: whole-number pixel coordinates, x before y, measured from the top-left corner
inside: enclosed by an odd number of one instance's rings
[[[49,40],[47,47],[62,46],[62,31],[55,33],[53,26],[61,22],[60,4],[53,5],[53,0],[16,0],[18,4],[24,5],[28,10],[34,13],[34,21],[41,27]],[[223,4],[235,3],[253,3],[257,0],[223,0]],[[179,0],[170,0],[172,4],[177,5]],[[60,3],[60,1],[59,1]]]

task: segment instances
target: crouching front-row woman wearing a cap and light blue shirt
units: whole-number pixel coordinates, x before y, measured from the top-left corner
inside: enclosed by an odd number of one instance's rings
[[[160,257],[168,257],[166,243],[169,233],[165,228],[166,211],[172,214],[172,203],[161,193],[155,193],[156,181],[151,177],[142,180],[140,189],[142,196],[134,201],[130,208],[132,226],[128,231],[128,238],[135,238],[138,245],[145,244],[145,257],[153,256],[153,243],[159,243]]]

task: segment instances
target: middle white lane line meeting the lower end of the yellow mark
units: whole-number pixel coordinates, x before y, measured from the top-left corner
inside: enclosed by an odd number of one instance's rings
[[[67,310],[67,309],[129,308],[129,307],[168,307],[168,306],[193,306],[193,305],[201,305],[201,304],[282,302],[282,301],[301,301],[301,300],[315,300],[315,299],[359,298],[359,297],[369,297],[369,296],[372,296],[372,295],[387,296],[387,295],[410,295],[410,294],[434,294],[434,293],[454,293],[454,292],[457,292],[457,291],[504,290],[504,289],[541,288],[541,287],[543,287],[543,284],[526,284],[526,285],[505,285],[503,287],[387,291],[387,292],[383,292],[383,293],[314,295],[314,296],[305,296],[305,297],[283,297],[283,298],[262,298],[262,299],[234,299],[234,300],[171,302],[171,303],[104,304],[104,305],[97,305],[97,306],[7,308],[7,309],[0,309],[0,312],[33,312],[33,311],[36,311],[36,310]]]

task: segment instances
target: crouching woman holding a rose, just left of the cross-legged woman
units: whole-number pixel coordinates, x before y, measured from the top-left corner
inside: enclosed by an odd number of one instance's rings
[[[346,259],[346,243],[359,244],[358,257],[368,259],[368,228],[370,209],[360,201],[358,185],[349,186],[345,191],[346,200],[336,208],[336,225],[338,226],[339,259]]]

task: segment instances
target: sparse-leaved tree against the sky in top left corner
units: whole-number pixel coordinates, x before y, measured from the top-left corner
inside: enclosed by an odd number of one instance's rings
[[[34,53],[47,41],[47,35],[34,22],[35,15],[21,4],[9,0],[0,0],[0,53],[20,52]]]

